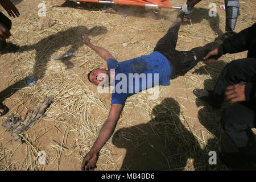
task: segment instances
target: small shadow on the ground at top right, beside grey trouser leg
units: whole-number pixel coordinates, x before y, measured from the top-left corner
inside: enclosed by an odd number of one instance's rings
[[[191,23],[201,23],[203,20],[207,20],[210,24],[210,28],[219,36],[224,34],[220,29],[220,15],[218,13],[216,16],[209,16],[209,9],[204,8],[194,8],[193,14],[191,16]]]

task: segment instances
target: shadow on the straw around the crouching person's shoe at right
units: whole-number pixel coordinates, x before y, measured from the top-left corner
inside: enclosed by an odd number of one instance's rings
[[[204,65],[203,67],[196,69],[192,73],[196,73],[198,75],[209,75],[211,78],[204,80],[204,89],[213,90],[214,85],[217,82],[218,76],[220,76],[220,73],[222,72],[226,64],[227,63],[225,63],[224,61],[218,60],[216,63]],[[220,152],[237,152],[236,146],[222,129],[222,123],[220,122],[222,111],[228,104],[225,103],[224,106],[221,107],[221,109],[213,109],[206,102],[201,101],[199,98],[196,98],[196,105],[197,107],[203,106],[197,114],[199,122],[213,135],[213,138],[207,141],[208,150],[216,151],[217,157]],[[229,169],[225,166],[223,167],[224,169]]]

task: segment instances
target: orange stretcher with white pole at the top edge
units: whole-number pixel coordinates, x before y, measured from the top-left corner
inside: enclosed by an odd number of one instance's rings
[[[71,0],[74,2],[94,2],[94,3],[105,3],[112,5],[130,5],[130,6],[144,6],[153,8],[166,8],[166,9],[181,9],[179,6],[172,6],[168,0],[110,0],[110,1],[99,1],[99,0]]]

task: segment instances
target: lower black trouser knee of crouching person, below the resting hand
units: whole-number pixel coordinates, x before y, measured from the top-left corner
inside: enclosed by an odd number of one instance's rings
[[[221,122],[243,157],[256,163],[256,143],[251,131],[256,126],[255,108],[250,102],[233,104],[223,111]]]

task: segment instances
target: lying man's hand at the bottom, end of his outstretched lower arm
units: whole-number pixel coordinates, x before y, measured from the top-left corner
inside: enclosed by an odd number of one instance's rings
[[[81,170],[82,171],[93,171],[97,168],[96,163],[98,160],[98,154],[91,154],[90,152],[85,155],[82,160]]]

